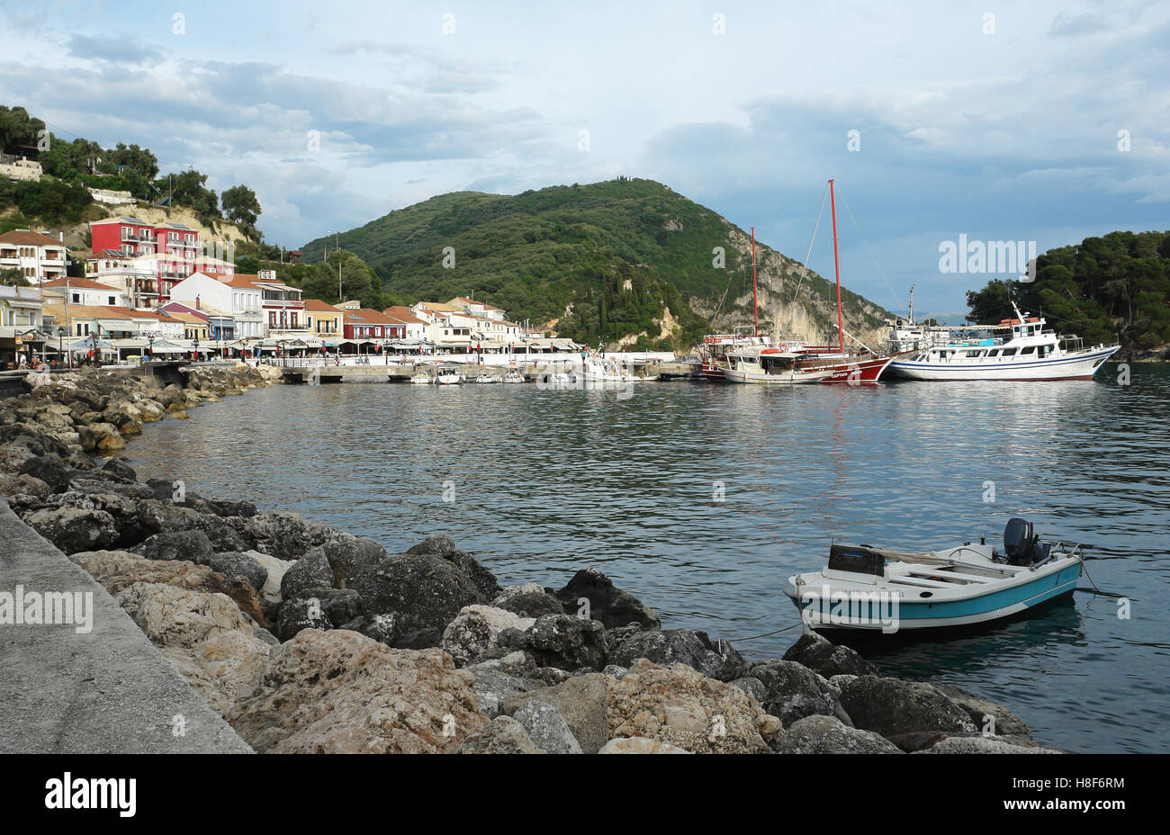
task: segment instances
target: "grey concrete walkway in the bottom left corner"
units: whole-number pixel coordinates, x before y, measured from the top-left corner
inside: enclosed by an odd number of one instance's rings
[[[113,598],[0,498],[0,593],[18,585],[92,592],[92,632],[0,623],[0,753],[252,751]],[[172,733],[177,716],[185,736]]]

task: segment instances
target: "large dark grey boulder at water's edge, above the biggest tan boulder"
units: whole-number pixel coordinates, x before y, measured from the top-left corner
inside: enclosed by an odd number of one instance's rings
[[[438,647],[464,606],[480,602],[475,584],[442,557],[415,554],[384,560],[352,587],[373,615],[393,615],[394,646]]]

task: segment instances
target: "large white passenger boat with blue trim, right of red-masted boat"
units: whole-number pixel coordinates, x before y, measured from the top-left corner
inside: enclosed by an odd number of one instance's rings
[[[1092,380],[1120,345],[1085,347],[1079,337],[1045,330],[1045,320],[1016,308],[998,325],[945,329],[931,344],[889,365],[910,380]],[[935,329],[938,330],[938,329]]]

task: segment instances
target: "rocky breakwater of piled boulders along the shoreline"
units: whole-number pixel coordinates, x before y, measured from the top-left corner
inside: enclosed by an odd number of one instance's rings
[[[0,405],[0,496],[259,752],[1051,751],[1002,705],[882,677],[815,635],[748,660],[663,629],[593,568],[562,588],[502,586],[446,534],[391,554],[295,513],[177,497],[88,455],[116,447],[88,446],[83,428],[261,382],[167,394],[69,375]]]

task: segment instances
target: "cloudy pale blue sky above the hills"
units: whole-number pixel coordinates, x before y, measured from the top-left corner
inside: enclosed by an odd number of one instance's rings
[[[4,0],[0,103],[248,185],[289,248],[622,174],[831,277],[834,178],[842,283],[962,318],[1020,270],[941,268],[961,235],[1170,229],[1170,4],[997,6]]]

